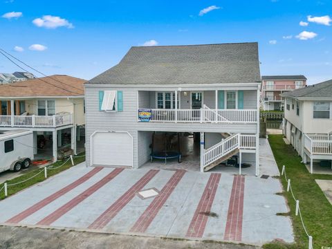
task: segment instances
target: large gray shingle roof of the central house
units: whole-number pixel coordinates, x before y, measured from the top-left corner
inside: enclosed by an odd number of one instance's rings
[[[257,42],[135,46],[87,84],[218,84],[260,82]]]

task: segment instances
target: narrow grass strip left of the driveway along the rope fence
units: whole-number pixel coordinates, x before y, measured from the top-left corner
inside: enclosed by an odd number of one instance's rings
[[[82,156],[82,157],[74,157],[74,164],[77,165],[78,163],[82,163],[85,160],[85,156],[83,156],[84,153],[79,154],[77,156]],[[66,160],[60,160],[57,161],[57,163],[53,163],[53,165],[48,165],[47,167],[58,167],[59,165],[62,165]],[[30,166],[31,167],[31,166]],[[66,169],[69,169],[70,167],[73,167],[71,165],[71,160],[68,160],[68,162],[66,164],[64,164],[62,167],[59,167],[57,169],[48,169],[47,170],[47,177],[50,176],[54,176],[55,174],[58,174],[59,172],[63,172]],[[37,174],[38,172],[42,173],[38,174],[37,176],[31,178],[29,181],[26,181],[24,183],[19,183],[21,181],[24,181],[32,176],[34,176],[35,174]],[[17,185],[12,185],[12,186],[8,186],[8,196],[11,196],[12,194],[16,194],[17,192],[26,189],[27,187],[30,187],[32,185],[35,185],[36,183],[40,183],[42,181],[45,181],[45,176],[44,176],[44,167],[42,169],[33,169],[30,172],[18,176],[17,178],[13,178],[11,180],[6,181],[7,184],[12,184],[12,183],[19,183]],[[0,189],[3,187],[3,183],[0,184]],[[4,190],[1,190],[0,192],[0,200],[5,198],[5,192]]]

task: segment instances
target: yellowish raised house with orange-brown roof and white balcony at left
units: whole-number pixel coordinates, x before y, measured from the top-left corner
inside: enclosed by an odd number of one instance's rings
[[[76,153],[84,136],[84,82],[53,75],[0,85],[0,130],[33,131],[35,154],[50,154],[53,160],[68,143]]]

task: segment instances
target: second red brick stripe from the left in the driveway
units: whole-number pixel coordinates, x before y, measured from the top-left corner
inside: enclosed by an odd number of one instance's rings
[[[66,204],[62,205],[62,207],[55,210],[53,213],[46,216],[42,221],[39,221],[37,225],[50,225],[57,219],[59,219],[62,215],[66,214],[69,210],[75,208],[76,205],[84,201],[86,198],[91,196],[94,192],[100,189],[100,187],[104,186],[105,184],[109,183],[113,178],[118,176],[120,172],[122,172],[123,168],[116,168],[113,169],[113,171],[102,180],[98,181],[98,183],[95,183],[91,187],[89,187],[87,190],[82,192],[81,194],[77,195],[74,199],[71,199],[71,201],[68,201]]]

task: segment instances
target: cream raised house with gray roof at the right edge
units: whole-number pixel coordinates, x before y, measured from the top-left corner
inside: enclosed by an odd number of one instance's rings
[[[306,86],[285,98],[284,134],[302,156],[310,160],[332,160],[332,80]]]

